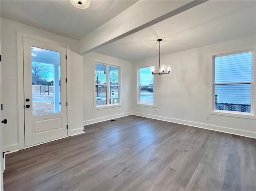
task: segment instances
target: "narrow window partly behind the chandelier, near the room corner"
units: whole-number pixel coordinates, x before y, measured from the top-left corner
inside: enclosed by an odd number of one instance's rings
[[[139,85],[138,85],[138,103],[153,105],[153,75],[151,74],[150,67],[140,68],[139,71]]]

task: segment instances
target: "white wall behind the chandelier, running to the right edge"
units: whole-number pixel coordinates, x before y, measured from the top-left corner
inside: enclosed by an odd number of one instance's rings
[[[254,46],[255,36],[161,56],[172,65],[170,75],[155,75],[156,108],[136,105],[137,68],[158,65],[158,57],[133,63],[133,114],[233,134],[256,137],[256,120],[209,114],[209,69],[212,53]],[[255,98],[255,96],[254,96]],[[255,107],[254,107],[255,108]],[[210,120],[206,120],[210,116]]]

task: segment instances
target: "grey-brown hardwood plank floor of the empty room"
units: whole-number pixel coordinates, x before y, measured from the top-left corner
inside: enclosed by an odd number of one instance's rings
[[[5,191],[256,190],[256,140],[138,116],[6,155]]]

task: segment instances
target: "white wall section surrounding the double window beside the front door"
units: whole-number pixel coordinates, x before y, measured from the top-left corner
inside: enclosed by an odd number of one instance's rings
[[[94,110],[93,60],[121,67],[120,103],[122,106]],[[84,125],[132,114],[132,63],[90,52],[83,56]]]

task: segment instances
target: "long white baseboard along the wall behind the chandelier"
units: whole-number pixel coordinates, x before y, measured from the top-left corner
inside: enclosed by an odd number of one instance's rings
[[[229,134],[234,134],[234,135],[256,138],[256,132],[250,132],[250,131],[232,129],[232,128],[227,128],[227,127],[209,125],[209,124],[204,124],[204,123],[162,117],[162,116],[157,116],[157,115],[144,114],[144,113],[139,113],[139,112],[132,112],[132,114],[136,115],[136,116],[146,117],[146,118],[168,121],[168,122],[173,122],[173,123],[178,123],[178,124],[208,129],[208,130],[214,130],[214,131],[218,131],[218,132],[224,132],[224,133],[229,133]]]

